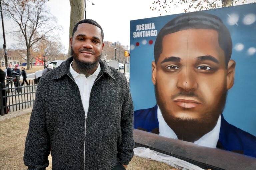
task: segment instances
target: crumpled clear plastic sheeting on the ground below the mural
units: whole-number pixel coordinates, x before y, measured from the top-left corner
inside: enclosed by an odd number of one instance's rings
[[[139,156],[142,158],[148,158],[151,160],[155,160],[158,162],[164,162],[168,165],[171,165],[174,168],[181,169],[181,170],[204,170],[196,165],[193,165],[189,162],[186,162],[184,160],[165,155],[163,153],[159,153],[153,150],[150,150],[149,148],[145,147],[137,147],[133,149],[134,155]]]

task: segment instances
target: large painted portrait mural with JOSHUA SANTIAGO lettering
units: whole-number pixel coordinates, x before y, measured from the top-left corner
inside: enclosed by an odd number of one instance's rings
[[[256,157],[255,9],[131,21],[134,128]]]

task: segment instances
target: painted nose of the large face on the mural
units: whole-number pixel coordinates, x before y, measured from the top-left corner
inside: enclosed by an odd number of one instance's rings
[[[189,69],[182,70],[178,75],[177,87],[184,91],[197,89],[196,73]]]

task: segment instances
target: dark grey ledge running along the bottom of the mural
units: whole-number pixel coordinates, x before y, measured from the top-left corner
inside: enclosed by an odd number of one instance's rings
[[[134,129],[135,147],[146,147],[170,155],[203,169],[256,169],[256,158]]]

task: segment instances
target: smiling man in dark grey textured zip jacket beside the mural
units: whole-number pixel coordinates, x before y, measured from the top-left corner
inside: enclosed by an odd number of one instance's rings
[[[101,61],[103,30],[79,21],[72,56],[44,74],[36,91],[24,163],[45,169],[126,169],[133,157],[133,103],[123,74]]]

